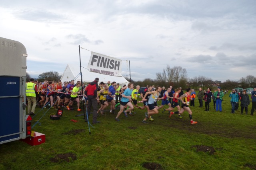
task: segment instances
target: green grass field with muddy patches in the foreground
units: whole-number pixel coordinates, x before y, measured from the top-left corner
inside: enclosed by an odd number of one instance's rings
[[[196,100],[191,107],[193,119],[198,121],[195,125],[190,125],[187,112],[180,119],[160,111],[149,124],[142,123],[145,111],[139,109],[134,116],[122,114],[119,122],[114,119],[116,115],[106,112],[98,118],[101,123],[90,127],[91,135],[83,116],[75,117],[82,112],[64,109],[60,120],[51,120],[49,115],[56,110],[50,109],[41,125],[33,128],[45,134],[46,142],[33,147],[22,141],[0,145],[0,169],[256,169],[256,116],[250,116],[251,104],[249,115],[241,115],[240,107],[231,114],[229,101],[226,94],[223,111],[216,112],[213,102],[210,111],[204,111]],[[89,121],[92,123],[92,115]]]

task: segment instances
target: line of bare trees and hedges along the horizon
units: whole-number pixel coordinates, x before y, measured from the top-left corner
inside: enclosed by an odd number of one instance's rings
[[[31,76],[26,73],[26,81],[29,81]],[[43,82],[44,80],[60,80],[61,76],[57,71],[43,72],[39,74],[38,81]],[[130,78],[124,77],[126,80],[130,81]],[[206,89],[208,87],[214,89],[216,86],[220,86],[222,89],[233,89],[236,87],[249,88],[256,86],[256,77],[248,75],[246,77],[240,78],[238,81],[226,80],[221,82],[218,80],[213,81],[212,78],[206,76],[195,76],[193,78],[188,78],[186,68],[181,66],[170,67],[169,65],[163,69],[162,72],[156,73],[156,79],[144,78],[144,80],[134,81],[134,84],[138,84],[141,87],[146,87],[147,85],[159,85],[165,86],[166,88],[173,86],[174,88],[182,87],[186,89],[187,87],[194,88],[198,90],[200,87]]]

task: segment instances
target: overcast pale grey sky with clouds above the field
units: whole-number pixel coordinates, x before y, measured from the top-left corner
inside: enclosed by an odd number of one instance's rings
[[[2,1],[0,37],[26,47],[34,78],[79,66],[78,45],[82,66],[94,51],[124,60],[126,76],[128,60],[133,80],[155,79],[167,64],[188,78],[256,76],[255,0]]]

